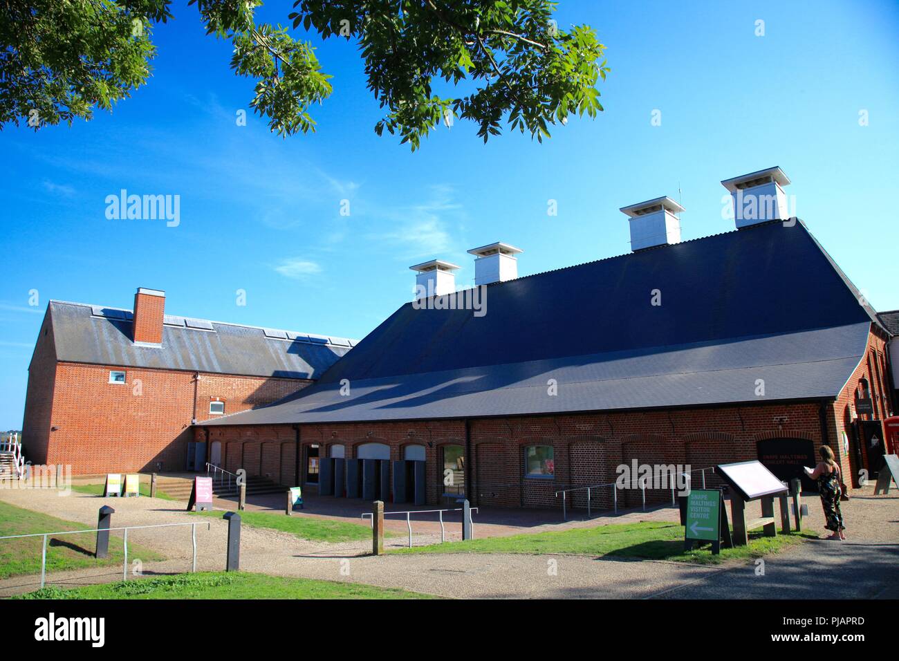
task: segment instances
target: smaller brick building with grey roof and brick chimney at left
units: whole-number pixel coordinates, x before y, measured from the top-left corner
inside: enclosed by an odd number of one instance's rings
[[[26,458],[76,475],[183,470],[191,424],[287,397],[350,347],[289,335],[169,317],[154,290],[138,290],[133,312],[51,301],[29,368]]]

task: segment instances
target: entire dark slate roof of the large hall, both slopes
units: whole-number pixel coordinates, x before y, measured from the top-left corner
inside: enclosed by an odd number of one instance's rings
[[[484,317],[407,303],[314,386],[204,424],[833,397],[879,323],[801,221],[495,283],[486,303]],[[349,397],[339,395],[344,379]]]

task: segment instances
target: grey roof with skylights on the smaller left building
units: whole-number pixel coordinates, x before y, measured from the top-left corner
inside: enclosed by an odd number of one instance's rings
[[[162,346],[142,346],[131,341],[131,310],[53,300],[48,314],[57,359],[66,362],[318,379],[353,344],[344,338],[166,316]]]

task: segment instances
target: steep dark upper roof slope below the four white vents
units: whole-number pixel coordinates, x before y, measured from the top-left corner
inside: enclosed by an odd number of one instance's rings
[[[480,317],[475,309],[406,303],[324,379],[356,382],[870,321],[800,222],[757,225],[481,291]],[[456,296],[458,307],[465,296]]]

